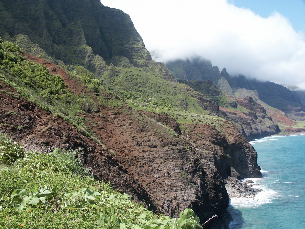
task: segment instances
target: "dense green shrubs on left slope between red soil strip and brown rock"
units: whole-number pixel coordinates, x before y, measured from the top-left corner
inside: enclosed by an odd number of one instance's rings
[[[70,122],[80,133],[92,137],[94,140],[95,134],[85,128],[83,115],[92,110],[98,110],[99,106],[121,107],[123,105],[120,100],[107,101],[103,96],[98,96],[99,103],[95,103],[93,95],[90,93],[74,94],[70,89],[66,89],[67,85],[61,76],[51,75],[45,66],[28,61],[17,45],[12,42],[3,42],[1,39],[0,66],[2,82],[15,88],[21,96],[42,107],[45,111]],[[80,77],[71,73],[71,77],[80,79],[79,82],[87,87],[88,91],[92,93],[98,93],[99,90],[107,91],[102,88],[100,80],[93,79],[92,75],[92,73],[89,76],[83,74]],[[9,91],[3,92],[13,94]]]

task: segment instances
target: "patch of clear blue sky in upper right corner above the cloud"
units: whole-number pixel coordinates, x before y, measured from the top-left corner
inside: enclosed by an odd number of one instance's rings
[[[289,18],[296,31],[305,33],[305,0],[231,0],[237,7],[249,8],[262,17],[277,11]]]

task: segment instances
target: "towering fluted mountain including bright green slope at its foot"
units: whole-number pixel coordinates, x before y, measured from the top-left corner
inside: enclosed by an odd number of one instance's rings
[[[174,77],[163,64],[152,61],[122,11],[95,0],[32,1],[26,7],[22,1],[14,7],[10,1],[0,3],[0,36],[63,67],[72,64],[69,70],[81,76],[94,73],[128,105],[219,114],[217,104],[206,96],[181,86],[176,89]]]

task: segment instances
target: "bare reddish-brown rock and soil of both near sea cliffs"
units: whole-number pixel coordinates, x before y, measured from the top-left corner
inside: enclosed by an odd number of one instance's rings
[[[60,74],[74,94],[85,93],[78,79],[63,69],[28,57]],[[232,124],[221,118],[213,118],[217,121],[211,125],[190,124],[188,128],[180,124],[180,135],[178,123],[167,114],[139,112],[126,106],[80,114],[85,128],[95,133],[102,147],[60,116],[43,111],[3,82],[1,85],[1,128],[7,134],[36,147],[84,148],[84,164],[98,179],[110,181],[115,189],[133,195],[137,201],[145,200],[154,211],[177,216],[191,208],[202,221],[217,214],[219,218],[206,227],[226,228],[230,216],[223,179],[231,175],[230,166],[242,176],[260,177],[255,151]],[[109,100],[112,96],[107,95]]]

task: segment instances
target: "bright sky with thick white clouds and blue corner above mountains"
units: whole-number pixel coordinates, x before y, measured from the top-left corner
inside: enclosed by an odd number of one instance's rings
[[[153,60],[201,56],[230,75],[305,89],[305,0],[101,0],[129,14]]]

